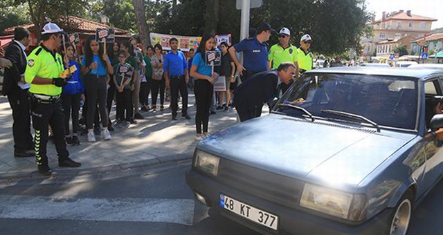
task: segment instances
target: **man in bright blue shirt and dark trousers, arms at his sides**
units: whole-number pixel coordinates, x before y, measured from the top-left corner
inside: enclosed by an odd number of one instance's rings
[[[178,50],[179,40],[172,37],[169,40],[171,51],[165,55],[163,62],[163,71],[165,71],[166,87],[171,91],[171,109],[172,120],[177,120],[177,110],[179,109],[179,92],[181,95],[181,117],[188,120],[191,119],[188,115],[188,87],[189,82],[188,62],[186,62],[185,55]]]

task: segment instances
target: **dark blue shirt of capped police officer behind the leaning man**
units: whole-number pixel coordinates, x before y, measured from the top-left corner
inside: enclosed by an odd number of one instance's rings
[[[243,66],[246,68],[246,75],[242,77],[242,81],[255,73],[268,70],[268,47],[266,42],[260,43],[257,37],[243,39],[234,45],[237,52],[243,52]]]

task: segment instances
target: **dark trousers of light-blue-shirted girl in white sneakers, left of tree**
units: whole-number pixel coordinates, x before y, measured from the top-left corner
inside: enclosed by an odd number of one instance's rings
[[[87,129],[93,128],[94,115],[96,114],[97,102],[100,112],[100,120],[102,126],[108,126],[108,115],[106,109],[106,79],[105,76],[88,76],[87,77],[87,99],[88,99],[88,111],[87,111]]]

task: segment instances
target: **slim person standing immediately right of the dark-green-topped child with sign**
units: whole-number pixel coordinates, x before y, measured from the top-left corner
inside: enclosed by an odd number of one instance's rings
[[[132,38],[129,39],[129,43],[132,44],[134,48],[134,58],[136,59],[136,66],[134,67],[134,91],[132,91],[132,105],[134,106],[134,119],[142,120],[144,119],[143,115],[139,113],[139,104],[140,104],[140,86],[141,86],[141,78],[142,75],[145,74],[145,62],[143,61],[143,53],[138,50],[137,39]]]

